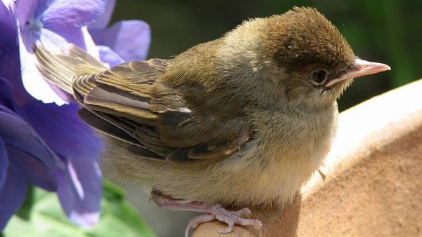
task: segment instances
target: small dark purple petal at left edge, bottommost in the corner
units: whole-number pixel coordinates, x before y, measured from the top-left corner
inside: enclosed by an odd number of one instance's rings
[[[20,208],[27,194],[28,177],[15,161],[10,160],[3,189],[0,190],[0,229]]]

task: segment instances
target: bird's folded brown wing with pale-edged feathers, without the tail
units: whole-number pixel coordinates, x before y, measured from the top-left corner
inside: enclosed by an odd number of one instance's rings
[[[206,164],[240,149],[252,135],[245,118],[203,114],[184,100],[184,93],[197,86],[172,87],[156,81],[167,62],[129,62],[98,74],[76,76],[74,94],[84,107],[79,116],[127,142],[129,151],[145,158]]]

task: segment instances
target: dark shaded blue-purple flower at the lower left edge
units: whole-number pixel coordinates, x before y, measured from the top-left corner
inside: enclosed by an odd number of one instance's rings
[[[64,168],[30,124],[8,108],[15,107],[11,90],[0,77],[0,229],[23,203],[28,184],[55,191],[54,172]]]

